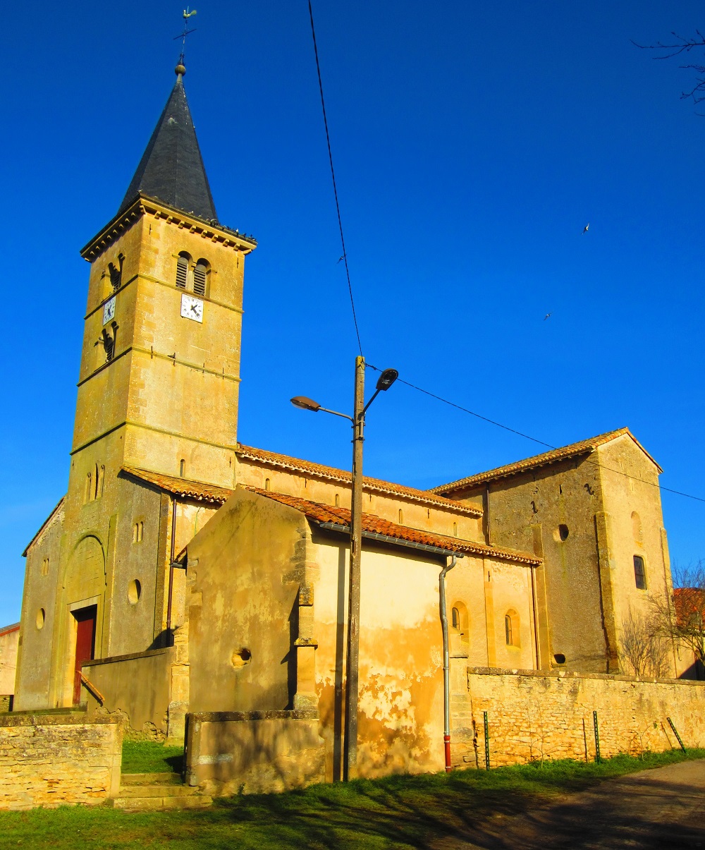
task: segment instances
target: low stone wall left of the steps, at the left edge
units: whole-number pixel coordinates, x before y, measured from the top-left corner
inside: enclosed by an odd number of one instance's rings
[[[84,713],[0,716],[0,810],[98,805],[120,788],[122,734]]]

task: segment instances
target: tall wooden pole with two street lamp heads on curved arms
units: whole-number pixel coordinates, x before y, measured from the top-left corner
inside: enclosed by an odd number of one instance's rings
[[[355,358],[355,396],[353,414],[330,411],[305,395],[297,395],[291,404],[304,411],[324,411],[352,422],[352,510],[350,515],[350,586],[347,611],[347,662],[345,688],[345,770],[344,779],[354,779],[358,766],[358,657],[360,649],[360,559],[363,527],[363,442],[364,415],[381,392],[392,386],[399,373],[385,369],[377,380],[375,393],[364,403],[364,357]]]

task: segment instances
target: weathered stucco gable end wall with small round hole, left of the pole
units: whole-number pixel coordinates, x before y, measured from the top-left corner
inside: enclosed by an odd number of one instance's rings
[[[306,519],[237,490],[188,547],[191,711],[268,711],[296,693]]]

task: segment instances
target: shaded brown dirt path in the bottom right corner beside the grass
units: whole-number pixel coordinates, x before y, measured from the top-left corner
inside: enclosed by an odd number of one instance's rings
[[[531,813],[497,815],[464,840],[435,845],[436,850],[476,847],[705,848],[705,761],[608,779]]]

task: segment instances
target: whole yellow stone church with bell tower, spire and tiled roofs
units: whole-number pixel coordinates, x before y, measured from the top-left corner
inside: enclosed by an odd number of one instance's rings
[[[238,443],[256,247],[217,220],[178,74],[120,209],[82,249],[69,484],[25,550],[14,708],[121,712],[133,734],[188,733],[192,755],[228,721],[240,755],[204,755],[193,781],[227,785],[240,759],[279,766],[253,785],[268,788],[341,775],[351,476]],[[453,555],[455,763],[477,760],[472,676],[629,673],[623,621],[672,595],[660,472],[621,428],[428,491],[365,479],[362,774],[443,768],[438,574]],[[669,645],[666,676],[684,667]]]

